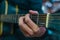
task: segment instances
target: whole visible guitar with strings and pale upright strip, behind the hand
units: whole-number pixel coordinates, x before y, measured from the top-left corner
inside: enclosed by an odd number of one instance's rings
[[[25,14],[9,14],[9,15],[0,15],[1,22],[8,22],[8,23],[18,23],[18,19]],[[38,26],[44,26],[46,28],[50,28],[55,32],[60,33],[60,13],[55,14],[34,14],[30,15],[31,20],[35,22]],[[0,35],[2,35],[3,29],[0,27]],[[9,32],[10,33],[10,32]],[[8,33],[8,34],[9,34]]]

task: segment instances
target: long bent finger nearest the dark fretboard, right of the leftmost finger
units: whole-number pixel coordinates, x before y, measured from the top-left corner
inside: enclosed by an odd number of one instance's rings
[[[39,27],[29,18],[29,14],[25,16],[26,24],[36,33],[39,30]]]

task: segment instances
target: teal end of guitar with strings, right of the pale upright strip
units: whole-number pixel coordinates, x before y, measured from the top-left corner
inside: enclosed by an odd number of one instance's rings
[[[50,28],[51,30],[53,30],[55,32],[57,31],[60,33],[60,14],[55,15],[54,17],[52,17],[52,16],[54,16],[54,15],[51,15],[49,17],[48,28]]]

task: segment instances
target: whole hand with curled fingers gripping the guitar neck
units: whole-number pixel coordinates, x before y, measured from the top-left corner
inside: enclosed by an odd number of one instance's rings
[[[30,10],[29,13],[31,14],[38,14],[37,11]],[[19,27],[22,33],[26,37],[40,37],[42,36],[46,29],[44,27],[38,27],[31,19],[30,14],[26,14],[19,18]]]

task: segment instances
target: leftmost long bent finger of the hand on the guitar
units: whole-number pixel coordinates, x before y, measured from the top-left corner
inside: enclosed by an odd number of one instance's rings
[[[33,35],[33,31],[24,23],[24,17],[20,17],[19,19],[19,26],[20,26],[20,29],[22,29],[22,31],[26,32],[28,35]],[[24,34],[26,34],[24,32]]]

